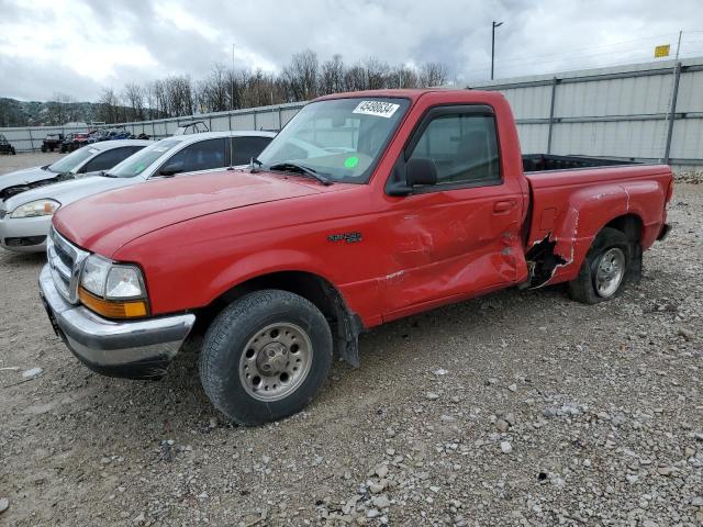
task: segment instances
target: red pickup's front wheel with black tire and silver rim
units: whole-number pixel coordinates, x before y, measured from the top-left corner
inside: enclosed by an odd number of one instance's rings
[[[200,378],[223,414],[260,425],[310,403],[327,377],[332,348],[330,325],[314,304],[288,291],[257,291],[210,325]]]

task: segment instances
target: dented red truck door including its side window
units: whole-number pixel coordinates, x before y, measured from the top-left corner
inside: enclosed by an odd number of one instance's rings
[[[490,106],[435,106],[422,117],[397,167],[432,159],[437,183],[388,198],[387,319],[516,281],[523,195],[516,175],[503,173],[499,145]]]

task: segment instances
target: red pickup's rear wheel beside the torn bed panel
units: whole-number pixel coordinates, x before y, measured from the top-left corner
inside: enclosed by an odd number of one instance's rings
[[[632,245],[621,231],[603,228],[585,255],[579,276],[569,282],[571,298],[598,304],[617,296],[627,281],[632,253]]]

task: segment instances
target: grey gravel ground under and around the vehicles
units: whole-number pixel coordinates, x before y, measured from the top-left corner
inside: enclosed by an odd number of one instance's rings
[[[81,367],[43,256],[2,253],[0,525],[703,525],[703,188],[670,218],[615,301],[509,290],[389,324],[258,428],[210,406],[197,343],[159,382]]]

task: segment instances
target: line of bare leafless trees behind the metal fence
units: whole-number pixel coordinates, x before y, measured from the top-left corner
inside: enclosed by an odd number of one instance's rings
[[[169,76],[144,85],[131,82],[121,91],[105,88],[98,100],[96,120],[121,123],[177,117],[306,101],[343,91],[426,88],[448,81],[449,69],[442,63],[414,68],[369,57],[347,65],[342,55],[321,63],[306,49],[293,54],[280,74],[215,64],[204,79],[197,81],[189,76]]]

